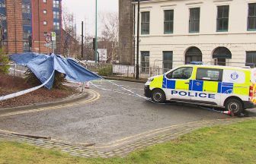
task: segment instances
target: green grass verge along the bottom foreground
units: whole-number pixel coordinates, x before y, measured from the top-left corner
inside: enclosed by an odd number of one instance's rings
[[[0,141],[0,163],[255,163],[256,119],[202,128],[177,140],[137,150],[126,158],[83,159]]]

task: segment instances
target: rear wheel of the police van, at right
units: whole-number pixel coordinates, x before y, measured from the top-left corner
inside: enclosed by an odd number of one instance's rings
[[[244,110],[238,99],[229,99],[225,104],[225,109],[234,112],[234,115],[240,115]]]

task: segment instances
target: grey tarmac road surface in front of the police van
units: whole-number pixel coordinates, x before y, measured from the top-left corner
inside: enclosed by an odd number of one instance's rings
[[[116,81],[126,89],[142,95],[144,84]],[[130,96],[109,82],[96,83],[100,99],[59,109],[2,116],[0,129],[21,134],[50,136],[79,144],[105,144],[156,128],[192,121],[230,118],[198,106],[184,104],[159,105],[138,96]],[[107,91],[107,90],[114,90]],[[95,96],[95,95],[94,95]],[[256,115],[250,110],[250,115]]]

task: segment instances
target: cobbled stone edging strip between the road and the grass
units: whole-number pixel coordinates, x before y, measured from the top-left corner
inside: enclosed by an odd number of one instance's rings
[[[187,123],[187,125],[182,125],[181,127],[178,125],[177,131],[172,129],[171,131],[165,131],[164,134],[158,134],[154,137],[146,137],[141,140],[137,140],[130,144],[121,145],[120,147],[113,147],[107,149],[99,149],[98,147],[85,147],[81,144],[72,144],[67,143],[61,140],[47,140],[47,139],[35,139],[26,136],[18,136],[17,134],[13,134],[11,132],[6,133],[5,131],[0,131],[0,140],[10,140],[21,142],[25,144],[34,145],[36,147],[41,147],[46,150],[60,150],[64,153],[69,153],[72,156],[81,156],[85,158],[109,158],[114,156],[124,157],[127,154],[133,152],[134,150],[142,150],[146,147],[149,147],[154,144],[161,144],[170,140],[174,140],[175,138],[181,136],[182,134],[190,133],[190,131],[194,131],[198,128],[203,127],[212,127],[216,125],[230,125],[233,123],[237,123],[240,121],[246,120],[254,120],[255,118],[232,118],[232,119],[220,119],[220,120],[206,120],[201,121],[200,124],[196,122]]]

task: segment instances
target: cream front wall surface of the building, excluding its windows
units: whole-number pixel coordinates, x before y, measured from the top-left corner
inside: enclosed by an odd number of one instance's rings
[[[255,0],[159,0],[141,2],[150,11],[150,34],[140,36],[139,51],[149,51],[150,65],[162,67],[162,52],[173,51],[174,65],[181,65],[187,49],[196,46],[203,61],[213,61],[213,52],[224,46],[232,52],[227,65],[245,65],[246,52],[256,51],[256,31],[247,30],[248,3]],[[217,6],[229,5],[229,31],[216,32]],[[189,33],[189,9],[200,7],[200,33]],[[164,34],[164,11],[174,10],[174,33]],[[140,56],[140,55],[139,55]],[[242,62],[241,64],[235,62]]]

